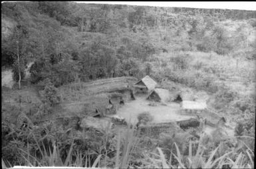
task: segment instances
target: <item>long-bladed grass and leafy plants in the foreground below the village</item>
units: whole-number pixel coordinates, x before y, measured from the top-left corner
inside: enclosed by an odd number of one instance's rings
[[[80,139],[63,132],[61,137],[66,138],[66,144],[63,145],[63,142],[55,142],[58,139],[53,139],[50,135],[37,138],[33,134],[35,132],[31,131],[27,144],[21,146],[21,141],[10,142],[15,152],[9,152],[9,156],[18,154],[15,164],[27,166],[254,168],[254,150],[245,144],[243,138],[234,137],[224,141],[218,136],[209,140],[203,133],[197,139],[188,133],[176,133],[178,136],[174,136],[174,133],[171,135],[165,132],[156,146],[156,139],[150,138],[151,133],[142,136],[140,132],[140,129],[136,131],[130,125],[122,132],[118,130],[114,137],[111,136],[111,131],[102,131],[100,136],[93,130],[86,131],[81,133],[83,136]],[[84,137],[88,133],[91,134],[90,139]],[[99,137],[100,142],[97,141]],[[186,142],[180,142],[180,139],[186,139]],[[254,141],[254,138],[249,139]],[[142,150],[143,148],[150,151]],[[35,154],[36,150],[39,154]],[[3,160],[3,164],[11,166],[8,160]]]

